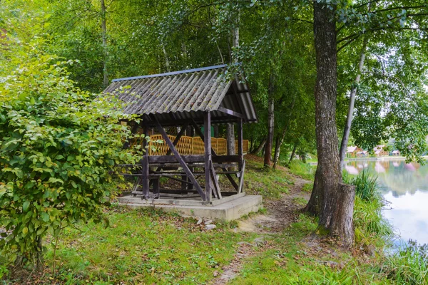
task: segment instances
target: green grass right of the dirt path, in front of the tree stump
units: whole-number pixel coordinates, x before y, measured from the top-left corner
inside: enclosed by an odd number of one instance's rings
[[[384,284],[386,274],[340,250],[325,249],[302,239],[317,220],[300,214],[282,234],[272,236],[270,249],[249,259],[231,284]]]

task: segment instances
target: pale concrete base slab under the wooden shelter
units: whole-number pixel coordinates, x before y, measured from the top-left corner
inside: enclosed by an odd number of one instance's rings
[[[238,196],[238,195],[234,195]],[[141,197],[125,196],[119,198],[119,204],[128,207],[156,207],[165,212],[178,212],[187,217],[206,217],[210,219],[222,219],[232,221],[239,219],[250,212],[258,212],[262,207],[262,196],[248,195],[229,199],[215,205],[186,205],[186,204],[151,204],[143,203]],[[232,197],[232,196],[231,196]]]

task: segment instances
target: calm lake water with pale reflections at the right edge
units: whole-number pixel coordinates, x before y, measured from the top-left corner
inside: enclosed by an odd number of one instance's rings
[[[382,195],[390,204],[384,217],[402,241],[428,244],[428,164],[404,160],[357,160],[347,162],[346,170],[357,175],[367,170],[379,177]],[[397,241],[397,244],[399,241]]]

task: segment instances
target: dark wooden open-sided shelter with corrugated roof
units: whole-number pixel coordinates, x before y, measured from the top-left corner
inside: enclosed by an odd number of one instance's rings
[[[228,77],[227,67],[210,66],[151,76],[113,80],[105,93],[113,93],[126,102],[125,113],[138,114],[140,123],[131,123],[148,135],[156,130],[168,149],[162,155],[146,152],[133,176],[138,177],[133,195],[143,199],[197,197],[204,203],[222,199],[218,175],[225,175],[236,193],[243,192],[245,160],[243,159],[243,123],[257,122],[248,86],[237,77]],[[211,125],[236,123],[238,155],[218,155],[213,148]],[[171,139],[166,127],[179,127]],[[203,142],[202,154],[178,151],[186,128],[191,127]],[[203,128],[200,128],[203,127]],[[126,144],[128,145],[128,144]],[[134,168],[136,169],[136,168]],[[160,178],[181,182],[179,190],[160,187]],[[198,181],[205,177],[205,183]],[[238,178],[238,180],[236,180]],[[196,194],[196,195],[195,195]]]

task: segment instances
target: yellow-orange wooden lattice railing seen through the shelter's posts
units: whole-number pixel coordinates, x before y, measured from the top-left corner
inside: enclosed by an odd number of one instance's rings
[[[168,138],[173,142],[175,136],[168,135]],[[136,140],[131,145],[136,143],[142,144],[143,139]],[[217,155],[227,155],[228,145],[225,138],[211,138],[211,147]],[[203,155],[205,153],[205,145],[199,137],[182,136],[175,145],[180,155]],[[162,138],[162,135],[151,135],[148,147],[148,155],[166,155],[169,150],[168,145]],[[238,153],[238,141],[235,141],[235,150]],[[243,152],[248,152],[248,140],[243,140]]]

